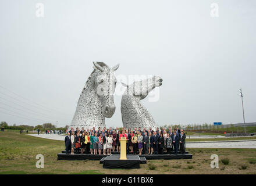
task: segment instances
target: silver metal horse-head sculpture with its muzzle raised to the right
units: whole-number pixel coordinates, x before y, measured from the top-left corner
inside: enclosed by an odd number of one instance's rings
[[[155,130],[157,124],[140,100],[144,99],[155,87],[162,85],[162,78],[154,76],[147,80],[135,81],[131,85],[123,85],[127,87],[121,101],[123,126],[132,129],[135,127],[151,127],[152,130]]]

